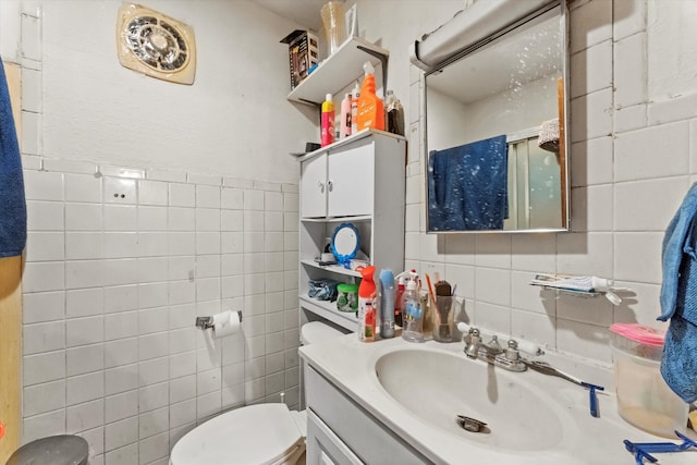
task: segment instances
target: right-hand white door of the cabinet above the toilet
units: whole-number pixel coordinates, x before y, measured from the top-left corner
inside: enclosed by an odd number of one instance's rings
[[[375,143],[370,138],[329,154],[327,216],[372,213],[374,155]]]

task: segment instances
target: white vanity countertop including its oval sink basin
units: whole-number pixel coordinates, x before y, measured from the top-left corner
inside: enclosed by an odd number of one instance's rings
[[[407,450],[421,454],[415,463],[634,464],[625,440],[681,442],[649,435],[620,417],[610,366],[553,352],[537,357],[606,387],[597,393],[599,416],[592,417],[587,390],[534,370],[511,372],[468,359],[463,347],[432,340],[409,344],[401,338],[364,344],[347,334],[299,352],[306,370],[311,367]],[[311,409],[311,396],[308,405]],[[461,428],[458,416],[475,418],[481,430]],[[692,431],[688,436],[697,439]],[[697,449],[655,456],[663,465],[694,464]]]

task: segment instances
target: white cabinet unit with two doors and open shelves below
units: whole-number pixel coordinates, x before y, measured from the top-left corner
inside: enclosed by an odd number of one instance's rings
[[[299,303],[301,323],[315,319],[350,331],[356,315],[337,309],[335,302],[307,294],[310,279],[359,283],[360,273],[341,266],[320,266],[317,257],[337,227],[352,223],[360,249],[379,272],[404,266],[404,192],[406,139],[366,130],[322,147],[301,159]]]

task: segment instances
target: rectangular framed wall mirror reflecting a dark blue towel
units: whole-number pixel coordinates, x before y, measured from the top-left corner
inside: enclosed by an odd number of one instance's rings
[[[568,229],[563,3],[426,73],[427,232]]]

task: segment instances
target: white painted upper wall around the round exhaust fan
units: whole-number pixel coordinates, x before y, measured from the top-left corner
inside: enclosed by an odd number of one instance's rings
[[[121,66],[121,3],[44,2],[42,155],[296,182],[288,154],[317,139],[314,111],[285,100],[296,25],[248,1],[149,2],[196,35],[196,81],[176,85]]]

